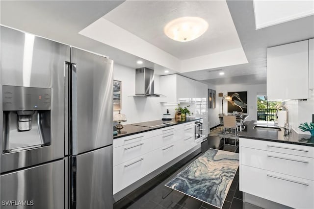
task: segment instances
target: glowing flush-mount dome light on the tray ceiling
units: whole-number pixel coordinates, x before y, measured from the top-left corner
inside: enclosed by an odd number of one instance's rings
[[[163,31],[175,41],[188,42],[203,35],[207,29],[208,23],[202,18],[182,17],[166,24]]]

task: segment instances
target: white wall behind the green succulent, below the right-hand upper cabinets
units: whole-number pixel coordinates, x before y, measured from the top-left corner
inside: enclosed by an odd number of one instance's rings
[[[307,101],[291,100],[285,102],[289,110],[289,124],[297,132],[309,134],[310,132],[301,132],[298,128],[300,123],[312,122],[312,114],[314,114],[314,90],[311,90],[311,98]]]

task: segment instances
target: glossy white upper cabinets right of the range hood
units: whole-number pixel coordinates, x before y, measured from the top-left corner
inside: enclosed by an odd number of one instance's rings
[[[207,97],[207,85],[184,76],[173,74],[160,76],[160,102],[191,102]]]

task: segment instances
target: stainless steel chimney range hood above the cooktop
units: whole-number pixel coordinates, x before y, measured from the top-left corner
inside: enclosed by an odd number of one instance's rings
[[[139,97],[148,96],[163,96],[162,94],[154,93],[154,70],[149,68],[137,68],[135,69],[135,95]]]

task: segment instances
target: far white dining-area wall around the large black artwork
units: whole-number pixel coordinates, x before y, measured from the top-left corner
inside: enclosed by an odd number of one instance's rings
[[[209,122],[210,127],[219,125],[218,114],[221,113],[221,97],[218,96],[218,93],[223,93],[224,95],[228,92],[247,92],[247,114],[249,117],[247,120],[257,120],[257,95],[266,94],[266,84],[259,85],[240,85],[240,84],[231,84],[231,85],[209,85],[209,89],[216,90],[216,108],[209,109]],[[223,104],[223,113],[227,114],[227,101],[224,100]]]

